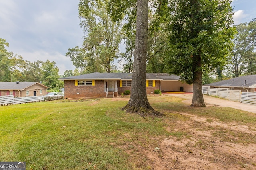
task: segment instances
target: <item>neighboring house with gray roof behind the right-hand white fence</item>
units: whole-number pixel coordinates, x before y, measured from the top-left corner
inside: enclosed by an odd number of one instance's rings
[[[241,90],[242,92],[255,92],[256,75],[230,78],[228,80],[205,84],[203,86],[211,88],[228,88],[229,90]]]

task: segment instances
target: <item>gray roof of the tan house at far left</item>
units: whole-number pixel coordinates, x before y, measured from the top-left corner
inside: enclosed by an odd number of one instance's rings
[[[28,88],[34,84],[40,84],[38,82],[19,82],[18,84],[16,82],[0,82],[0,90],[23,90],[25,88]],[[40,84],[41,86],[44,86],[43,84]],[[47,88],[47,86],[44,86]]]

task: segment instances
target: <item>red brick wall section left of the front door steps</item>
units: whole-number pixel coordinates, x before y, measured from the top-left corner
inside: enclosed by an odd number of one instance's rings
[[[105,97],[104,80],[95,80],[95,86],[75,86],[75,81],[64,81],[65,98]],[[79,94],[77,94],[79,93]]]

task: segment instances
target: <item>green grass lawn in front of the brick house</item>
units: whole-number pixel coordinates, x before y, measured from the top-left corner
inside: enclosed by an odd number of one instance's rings
[[[158,147],[170,135],[166,127],[190,112],[223,122],[256,122],[250,113],[223,107],[191,108],[179,98],[149,97],[161,117],[141,117],[121,111],[127,101],[55,100],[0,106],[0,161],[25,161],[30,170],[150,169],[136,146]],[[214,110],[214,115],[211,113]],[[224,112],[228,114],[223,114]],[[231,117],[230,115],[236,113]]]

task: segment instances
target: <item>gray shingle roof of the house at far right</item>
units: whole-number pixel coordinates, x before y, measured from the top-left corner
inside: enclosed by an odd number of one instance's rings
[[[241,76],[230,78],[220,82],[205,84],[203,86],[222,86],[222,87],[256,87],[256,75]]]

